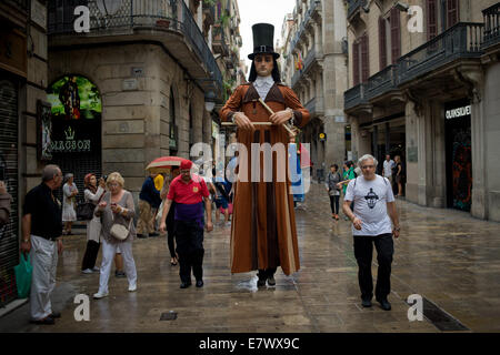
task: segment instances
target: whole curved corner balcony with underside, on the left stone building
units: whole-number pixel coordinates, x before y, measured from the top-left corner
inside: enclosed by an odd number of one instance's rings
[[[206,92],[222,93],[222,74],[191,11],[182,0],[122,0],[107,8],[89,0],[89,32],[74,30],[74,1],[48,1],[49,47],[117,43],[132,39],[160,42],[182,62]]]

